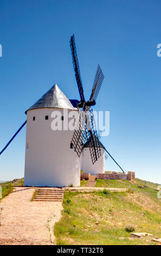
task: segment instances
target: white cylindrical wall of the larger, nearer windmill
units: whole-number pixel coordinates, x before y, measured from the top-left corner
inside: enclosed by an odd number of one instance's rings
[[[74,149],[70,149],[73,131],[53,131],[53,111],[60,111],[63,115],[63,109],[58,108],[27,112],[25,186],[80,186],[81,161]],[[46,115],[48,120],[45,119]]]

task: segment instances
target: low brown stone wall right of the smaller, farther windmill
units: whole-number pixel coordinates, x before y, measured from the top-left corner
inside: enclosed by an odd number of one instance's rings
[[[135,178],[134,172],[127,172],[127,174],[110,172],[110,173],[98,173],[96,175],[96,179],[101,179],[101,180],[132,180],[134,178]]]

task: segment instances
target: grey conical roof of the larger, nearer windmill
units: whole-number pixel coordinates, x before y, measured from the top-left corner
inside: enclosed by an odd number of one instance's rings
[[[66,108],[66,109],[77,109],[73,107],[68,97],[62,92],[62,90],[55,83],[53,87],[45,93],[40,100],[31,106],[30,109],[36,108]],[[28,111],[27,110],[27,111]],[[27,113],[27,111],[25,113]]]

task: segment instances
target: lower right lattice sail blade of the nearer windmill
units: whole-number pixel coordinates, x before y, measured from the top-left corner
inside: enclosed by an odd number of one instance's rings
[[[87,118],[87,142],[89,144],[89,150],[91,154],[92,163],[94,164],[101,156],[101,149],[99,145],[99,139],[96,131],[95,120],[93,111],[89,111],[89,119]],[[89,121],[90,120],[90,121]],[[89,125],[90,123],[90,125]],[[90,130],[89,130],[90,126]]]

